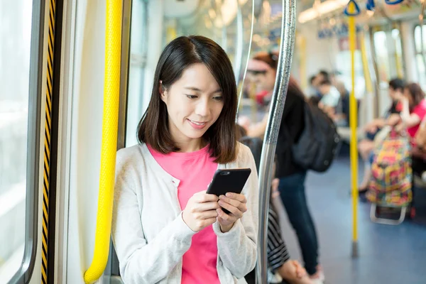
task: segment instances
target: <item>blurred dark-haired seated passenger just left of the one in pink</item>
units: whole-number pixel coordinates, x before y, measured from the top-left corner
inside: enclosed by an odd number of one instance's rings
[[[370,156],[371,151],[373,151],[374,148],[374,137],[376,136],[376,133],[380,129],[383,128],[387,123],[386,121],[389,119],[391,114],[399,114],[399,111],[397,110],[397,104],[398,104],[398,98],[403,95],[405,87],[405,82],[401,79],[393,79],[389,81],[389,97],[391,97],[391,107],[389,107],[388,111],[386,111],[386,114],[383,115],[383,117],[380,117],[378,119],[373,119],[373,121],[366,124],[364,127],[364,130],[366,131],[366,138],[359,141],[358,149],[359,153],[364,160],[364,179],[361,182],[361,185],[359,185],[359,192],[361,194],[364,194],[367,192],[367,186],[368,182],[370,181],[370,162],[368,160],[368,157]],[[389,121],[389,124],[393,124],[391,121]]]

